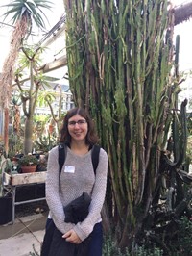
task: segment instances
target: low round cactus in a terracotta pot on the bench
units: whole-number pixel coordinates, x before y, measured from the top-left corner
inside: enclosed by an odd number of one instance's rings
[[[35,172],[38,160],[36,156],[25,155],[18,160],[18,165],[22,169],[22,173]]]

